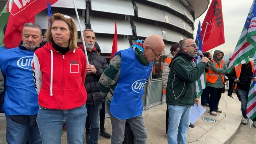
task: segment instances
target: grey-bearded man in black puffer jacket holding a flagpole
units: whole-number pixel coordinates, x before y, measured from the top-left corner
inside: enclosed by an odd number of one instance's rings
[[[99,116],[100,116],[102,103],[104,102],[104,98],[100,94],[98,81],[101,77],[101,74],[108,67],[108,64],[104,57],[97,54],[96,47],[95,47],[96,36],[93,30],[85,29],[83,31],[83,34],[84,34],[86,48],[84,48],[82,44],[79,45],[79,48],[86,50],[88,59],[89,59],[89,65],[87,65],[86,67],[85,88],[87,91],[87,100],[86,100],[86,107],[87,107],[87,113],[88,113],[87,120],[89,121],[89,122],[87,121],[87,123],[90,124],[90,131],[88,130],[88,126],[87,126],[87,131],[85,136],[86,136],[86,143],[97,144],[98,133],[100,129]],[[82,38],[80,38],[80,40],[82,42]],[[105,135],[108,134],[105,131],[105,129],[101,129],[100,133]]]

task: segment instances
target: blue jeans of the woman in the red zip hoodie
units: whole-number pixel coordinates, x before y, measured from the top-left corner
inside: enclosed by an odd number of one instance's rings
[[[69,110],[46,109],[39,106],[37,123],[43,144],[60,144],[63,124],[68,144],[83,144],[87,116],[86,105]]]

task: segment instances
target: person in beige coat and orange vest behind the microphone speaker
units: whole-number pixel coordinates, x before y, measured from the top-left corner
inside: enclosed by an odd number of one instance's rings
[[[163,94],[166,95],[166,85],[167,85],[167,80],[168,80],[168,75],[169,75],[169,71],[170,71],[170,68],[169,68],[169,65],[171,63],[171,59],[175,56],[175,54],[178,52],[179,50],[179,43],[175,43],[171,46],[170,48],[170,53],[169,55],[167,56],[166,59],[164,59],[164,63],[161,67],[161,69],[163,70],[162,72],[162,78],[163,78]],[[168,106],[167,106],[167,109],[166,109],[166,118],[165,118],[165,124],[166,124],[166,135],[167,135],[167,132],[168,132],[168,118],[169,118],[169,112],[168,112]]]

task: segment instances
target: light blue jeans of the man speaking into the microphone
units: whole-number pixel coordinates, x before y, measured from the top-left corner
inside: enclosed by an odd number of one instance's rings
[[[185,144],[189,129],[191,106],[168,105],[168,144]]]

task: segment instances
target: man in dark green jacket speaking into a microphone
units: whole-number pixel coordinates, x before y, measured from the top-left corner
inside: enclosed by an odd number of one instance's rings
[[[195,81],[205,71],[209,59],[203,57],[197,66],[192,59],[197,56],[198,47],[193,39],[179,42],[179,51],[170,63],[170,73],[166,86],[166,103],[169,110],[168,144],[185,144],[189,129],[191,107],[199,100]]]

